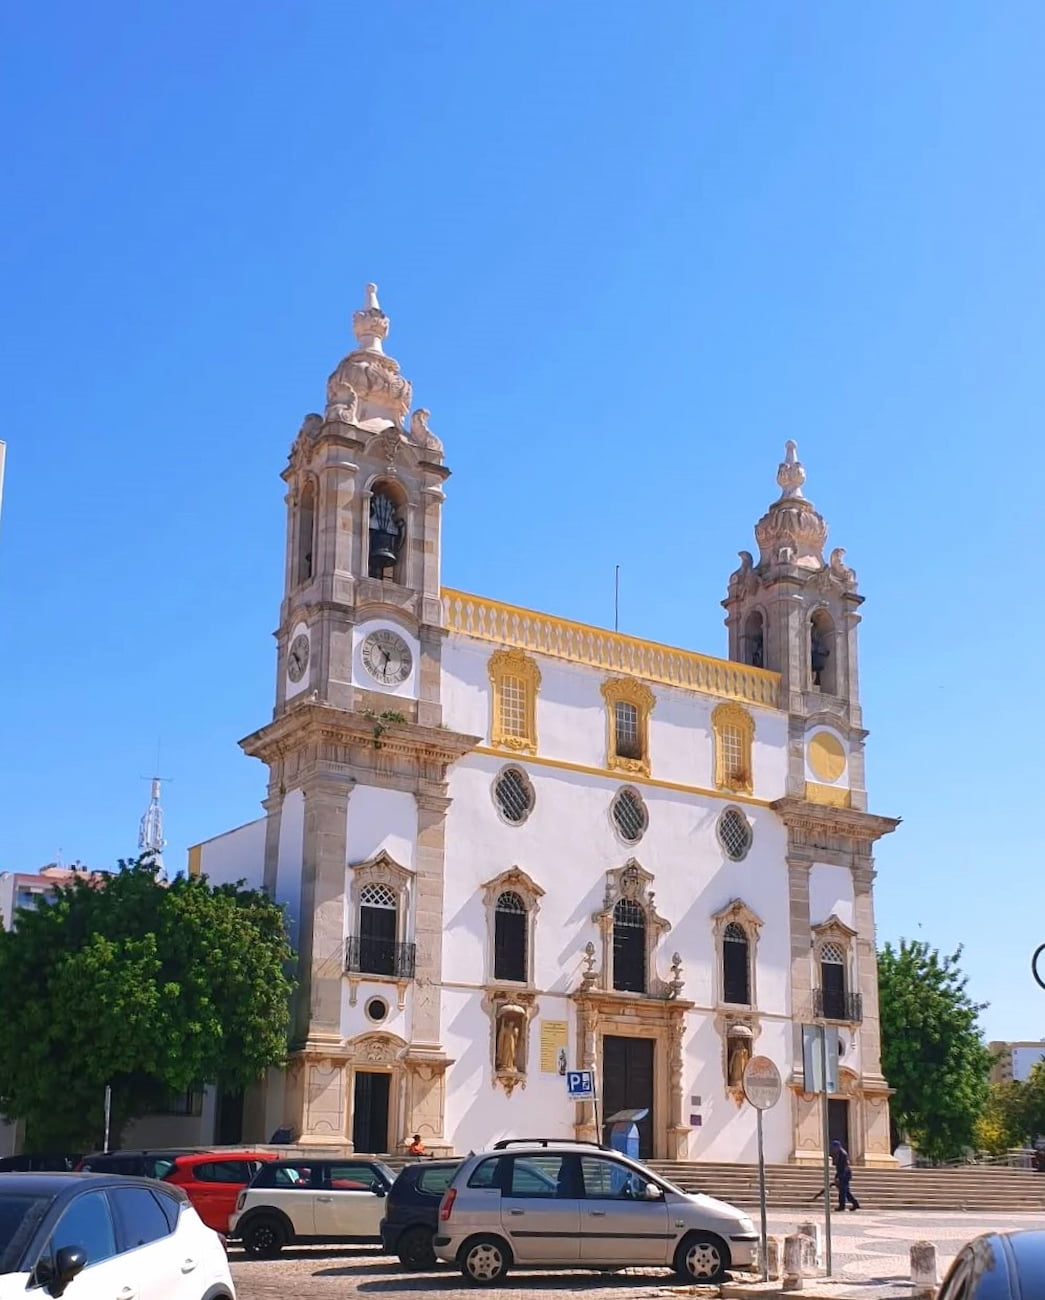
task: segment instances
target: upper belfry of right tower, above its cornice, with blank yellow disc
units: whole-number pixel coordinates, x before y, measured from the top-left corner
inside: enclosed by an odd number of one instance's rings
[[[780,673],[780,705],[792,716],[788,794],[805,797],[807,784],[818,784],[801,741],[808,723],[821,719],[844,733],[846,806],[864,809],[857,644],[863,597],[841,547],[824,560],[828,525],[802,493],[806,471],[794,442],[785,447],[776,481],[780,497],[755,525],[758,563],[749,551],[740,552],[741,566],[723,601],[729,658]],[[819,745],[834,748],[827,737]],[[820,762],[816,748],[814,753],[823,774],[841,760],[836,755]]]

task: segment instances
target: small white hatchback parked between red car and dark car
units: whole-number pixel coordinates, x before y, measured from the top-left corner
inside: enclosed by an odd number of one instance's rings
[[[380,1160],[273,1160],[239,1193],[229,1235],[264,1257],[295,1242],[380,1242],[394,1182]]]

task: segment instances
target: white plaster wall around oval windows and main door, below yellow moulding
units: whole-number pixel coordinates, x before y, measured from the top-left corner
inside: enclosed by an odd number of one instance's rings
[[[725,858],[715,833],[719,815],[729,806],[725,801],[642,785],[650,826],[637,845],[625,845],[608,811],[620,781],[524,759],[520,766],[533,783],[534,810],[522,826],[510,826],[490,796],[503,766],[500,758],[474,754],[458,763],[450,777],[443,979],[461,988],[445,993],[443,1035],[447,1053],[458,1062],[450,1075],[448,1136],[459,1149],[468,1149],[510,1132],[546,1132],[550,1123],[561,1123],[565,1131],[573,1122],[573,1108],[556,1076],[545,1080],[530,1074],[526,1089],[517,1089],[511,1098],[490,1086],[490,1020],[474,992],[491,974],[482,885],[517,866],[545,889],[534,942],[538,1020],[567,1019],[572,1036],[573,1006],[564,994],[577,987],[589,940],[597,944],[602,961],[591,914],[602,907],[606,872],[634,857],[654,874],[656,910],[672,926],[656,952],[656,974],[669,976],[671,956],[677,950],[686,980],[682,996],[698,1004],[688,1014],[684,1078],[684,1119],[689,1122],[690,1113],[701,1115],[690,1140],[693,1157],[747,1158],[736,1150],[751,1145],[754,1152],[754,1117],[738,1113],[725,1096],[723,1044],[714,1027],[717,959],[712,916],[733,898],[742,898],[763,920],[755,970],[758,1009],[764,1017],[758,1050],[773,1056],[786,1076],[792,1063],[790,939],[782,824],[768,809],[745,805],[754,840],[745,861],[734,863]],[[532,1035],[530,1050],[539,1052],[539,1028]],[[539,1061],[532,1060],[530,1071],[538,1066]],[[693,1110],[691,1096],[702,1098]],[[786,1110],[785,1102],[781,1108]],[[771,1158],[786,1160],[790,1117],[775,1115],[766,1132]]]

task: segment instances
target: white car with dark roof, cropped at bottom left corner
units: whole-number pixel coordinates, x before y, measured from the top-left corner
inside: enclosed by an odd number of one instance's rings
[[[0,1175],[0,1300],[235,1300],[229,1261],[179,1188],[109,1174]],[[39,1290],[38,1290],[39,1288]]]

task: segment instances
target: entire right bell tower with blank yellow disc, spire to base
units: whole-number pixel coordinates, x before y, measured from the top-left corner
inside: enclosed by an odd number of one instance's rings
[[[788,715],[785,793],[771,806],[788,832],[793,1158],[820,1158],[816,1148],[828,1140],[802,1071],[802,1024],[823,1023],[845,1049],[832,1123],[846,1126],[857,1162],[888,1166],[872,846],[898,823],[867,811],[857,640],[863,597],[841,547],[824,559],[828,526],[802,493],[806,472],[794,442],[776,481],[780,497],[755,525],[758,562],[741,551],[723,606],[729,658],[779,673]]]

